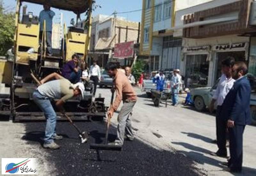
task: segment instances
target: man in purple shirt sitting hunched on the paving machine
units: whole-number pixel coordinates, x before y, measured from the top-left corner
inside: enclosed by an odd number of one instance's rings
[[[80,81],[82,76],[82,71],[77,67],[78,55],[73,54],[72,60],[68,61],[62,68],[61,75],[68,79],[72,84],[76,84]]]

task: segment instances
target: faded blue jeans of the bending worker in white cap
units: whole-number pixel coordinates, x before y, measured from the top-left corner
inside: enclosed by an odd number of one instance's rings
[[[44,133],[44,143],[52,143],[53,137],[56,136],[56,113],[48,97],[41,95],[37,90],[33,93],[33,100],[38,107],[44,112],[46,118],[46,127]]]

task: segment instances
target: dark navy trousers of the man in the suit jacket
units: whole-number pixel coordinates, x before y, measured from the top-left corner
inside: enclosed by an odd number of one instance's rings
[[[229,150],[230,150],[230,169],[242,169],[243,163],[243,134],[245,125],[235,125],[228,128]]]

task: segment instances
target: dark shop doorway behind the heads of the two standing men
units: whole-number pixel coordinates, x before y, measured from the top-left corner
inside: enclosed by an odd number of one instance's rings
[[[237,51],[237,52],[218,52],[218,65],[217,65],[217,75],[215,80],[217,80],[221,76],[221,62],[228,57],[233,57],[235,61],[242,61],[248,65],[248,61],[245,61],[245,51]]]

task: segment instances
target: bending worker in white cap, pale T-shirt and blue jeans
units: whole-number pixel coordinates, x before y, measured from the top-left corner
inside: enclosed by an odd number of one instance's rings
[[[55,79],[55,80],[52,80]],[[52,80],[52,81],[50,81]],[[60,140],[62,136],[56,134],[56,113],[52,107],[52,99],[59,99],[56,102],[57,108],[64,113],[62,105],[72,97],[84,94],[84,84],[71,84],[70,81],[52,73],[42,79],[41,84],[33,93],[33,100],[44,112],[46,118],[46,127],[44,134],[44,148],[57,149],[60,148],[53,140]]]

